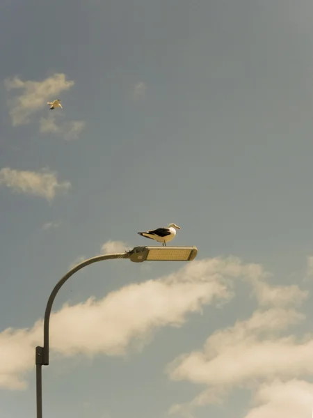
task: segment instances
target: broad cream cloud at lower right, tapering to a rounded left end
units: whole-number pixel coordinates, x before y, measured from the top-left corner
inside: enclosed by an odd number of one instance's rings
[[[172,380],[207,385],[190,405],[218,403],[234,387],[310,376],[313,336],[302,341],[292,335],[280,336],[304,318],[294,309],[257,310],[248,320],[209,336],[203,350],[177,357],[167,372]]]

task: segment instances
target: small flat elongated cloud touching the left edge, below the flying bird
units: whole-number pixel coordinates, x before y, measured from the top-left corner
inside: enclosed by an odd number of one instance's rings
[[[58,182],[56,173],[49,169],[42,171],[18,171],[9,167],[0,170],[0,185],[9,187],[16,193],[40,196],[52,201],[57,193],[65,193],[70,182]]]

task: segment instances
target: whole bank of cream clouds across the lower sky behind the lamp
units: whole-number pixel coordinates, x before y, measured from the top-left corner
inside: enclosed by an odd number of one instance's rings
[[[119,252],[125,246],[106,242],[103,251]],[[220,307],[232,300],[241,281],[249,284],[257,309],[216,330],[202,348],[168,364],[170,379],[202,387],[195,398],[172,405],[168,412],[191,418],[195,408],[223,403],[232,390],[245,388],[253,402],[244,418],[307,415],[312,412],[313,385],[303,378],[313,374],[313,334],[301,337],[291,332],[305,320],[298,307],[307,292],[296,285],[271,285],[268,277],[262,266],[239,258],[203,259],[166,277],[124,286],[100,300],[90,297],[80,304],[65,304],[51,316],[51,354],[94,357],[138,352],[161,327],[182,327],[204,306]],[[0,333],[4,353],[0,387],[26,387],[34,348],[41,341],[42,320],[29,329]]]

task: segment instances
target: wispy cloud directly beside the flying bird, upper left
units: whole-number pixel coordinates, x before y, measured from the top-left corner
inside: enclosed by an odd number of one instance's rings
[[[17,126],[29,123],[32,114],[47,107],[48,101],[74,86],[74,81],[67,80],[65,74],[56,73],[42,82],[24,82],[16,76],[6,79],[5,86],[8,91],[22,90],[20,95],[8,102],[12,124]]]

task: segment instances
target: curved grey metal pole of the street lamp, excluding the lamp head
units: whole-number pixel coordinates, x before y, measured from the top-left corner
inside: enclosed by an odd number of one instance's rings
[[[72,268],[72,270],[67,272],[65,276],[63,276],[63,278],[60,281],[58,281],[56,286],[54,286],[54,290],[51,292],[51,295],[49,296],[49,300],[47,302],[47,307],[45,310],[44,346],[38,346],[35,348],[37,418],[42,418],[42,366],[48,366],[49,364],[49,322],[52,305],[54,303],[54,299],[56,298],[58,291],[61,289],[63,284],[65,284],[65,281],[70,279],[70,277],[73,274],[86,267],[87,265],[97,263],[97,261],[113,260],[115,258],[129,258],[129,256],[129,252],[125,252],[120,254],[104,254],[102,256],[89,258],[88,260],[85,260],[82,263],[76,265],[74,268]]]

